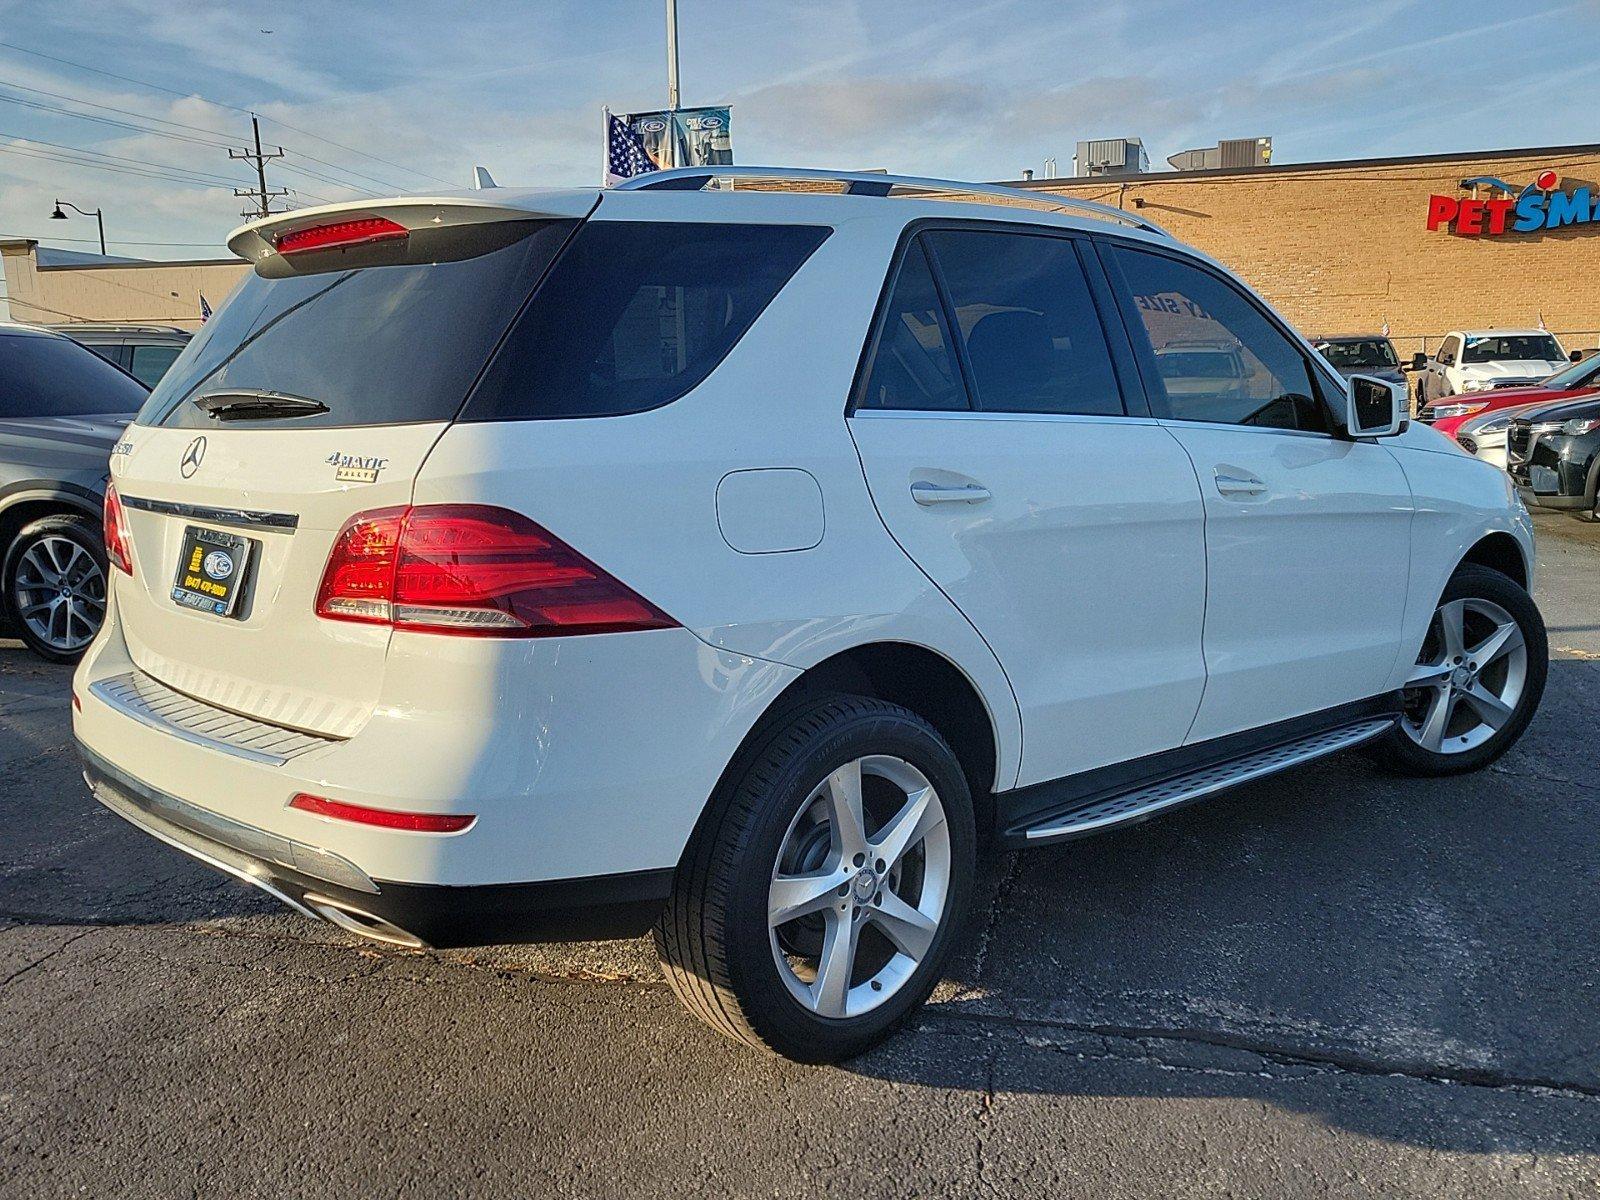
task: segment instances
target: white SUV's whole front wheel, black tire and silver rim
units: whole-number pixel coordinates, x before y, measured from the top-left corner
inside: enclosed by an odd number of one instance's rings
[[[1400,722],[1374,742],[1374,755],[1419,776],[1488,766],[1528,728],[1547,672],[1533,597],[1499,571],[1464,565],[1438,600]]]

